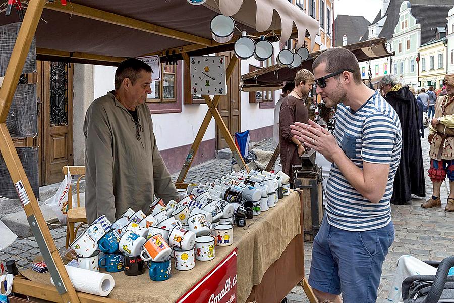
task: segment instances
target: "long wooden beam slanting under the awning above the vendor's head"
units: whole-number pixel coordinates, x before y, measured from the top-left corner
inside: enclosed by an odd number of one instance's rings
[[[151,3],[150,3],[151,4]],[[106,11],[90,8],[80,4],[71,2],[70,5],[63,6],[60,1],[55,1],[53,3],[48,3],[45,6],[46,9],[67,13],[71,15],[76,15],[84,18],[89,18],[97,21],[102,21],[110,24],[115,24],[123,27],[128,27],[131,29],[136,29],[144,31],[147,33],[152,33],[164,37],[170,37],[182,41],[187,41],[195,44],[200,44],[204,46],[211,46],[211,40],[202,38],[199,36],[191,35],[184,33],[178,30],[171,28],[159,26],[156,24],[136,20],[133,18],[125,17],[118,14],[109,13]]]

